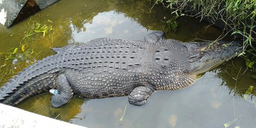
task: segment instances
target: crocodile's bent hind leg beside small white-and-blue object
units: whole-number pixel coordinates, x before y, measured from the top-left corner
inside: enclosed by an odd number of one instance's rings
[[[55,108],[66,104],[73,97],[73,90],[63,74],[57,77],[56,87],[58,94],[51,97],[51,105]]]

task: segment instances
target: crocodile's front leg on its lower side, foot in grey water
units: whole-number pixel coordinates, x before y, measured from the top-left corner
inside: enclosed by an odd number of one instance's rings
[[[147,98],[154,92],[151,86],[139,86],[130,93],[128,101],[135,106],[142,106],[147,103]]]

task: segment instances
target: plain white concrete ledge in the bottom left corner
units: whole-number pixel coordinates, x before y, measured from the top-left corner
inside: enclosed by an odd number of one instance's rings
[[[86,128],[0,104],[0,128]]]

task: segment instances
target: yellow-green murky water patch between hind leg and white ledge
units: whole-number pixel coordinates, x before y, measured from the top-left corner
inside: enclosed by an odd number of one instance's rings
[[[70,119],[76,118],[76,114],[81,113],[81,105],[86,104],[87,101],[79,97],[73,97],[69,104],[60,108],[53,108],[50,104],[50,97],[52,97],[50,93],[42,93],[25,100],[18,104],[17,107],[68,122]]]

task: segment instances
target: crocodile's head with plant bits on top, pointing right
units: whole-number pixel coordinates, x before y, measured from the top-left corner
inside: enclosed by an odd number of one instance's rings
[[[188,62],[191,66],[190,73],[199,75],[235,57],[241,51],[242,45],[237,41],[225,42],[192,42],[185,43],[189,52]]]

